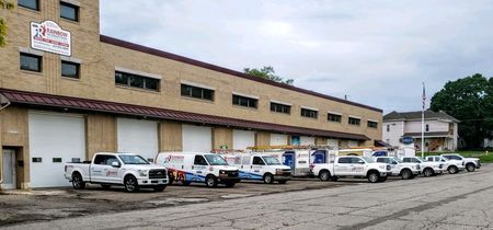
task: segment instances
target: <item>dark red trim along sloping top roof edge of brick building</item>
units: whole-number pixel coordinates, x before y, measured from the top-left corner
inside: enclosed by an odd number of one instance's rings
[[[138,44],[135,44],[135,43],[129,43],[129,42],[117,39],[117,38],[114,38],[114,37],[108,37],[108,36],[105,36],[105,35],[101,35],[100,36],[100,41],[102,43],[111,44],[111,45],[114,45],[114,46],[119,46],[119,47],[124,47],[124,48],[127,48],[127,49],[133,49],[133,50],[136,50],[136,51],[141,51],[141,53],[146,53],[146,54],[149,54],[149,55],[154,55],[154,56],[158,56],[158,57],[163,57],[163,58],[176,60],[176,61],[180,61],[180,62],[185,62],[185,64],[188,64],[188,65],[202,67],[202,68],[205,68],[205,69],[210,69],[210,70],[214,70],[214,71],[222,72],[222,73],[230,74],[230,76],[233,76],[233,77],[248,79],[248,80],[251,80],[251,81],[256,81],[256,82],[261,82],[261,83],[264,83],[264,84],[270,84],[270,85],[273,85],[273,87],[283,88],[283,89],[286,89],[286,90],[291,90],[291,91],[295,91],[295,92],[305,93],[305,94],[309,94],[309,95],[313,95],[313,96],[318,96],[318,97],[322,97],[322,99],[326,99],[326,100],[331,100],[331,101],[336,101],[336,102],[341,102],[341,103],[344,103],[344,104],[367,108],[367,110],[370,110],[370,111],[376,111],[376,112],[380,112],[380,113],[383,112],[381,108],[372,107],[372,106],[369,106],[369,105],[364,105],[364,104],[360,104],[360,103],[357,103],[357,102],[352,102],[352,101],[339,99],[339,97],[331,96],[331,95],[325,95],[325,94],[322,94],[322,93],[318,93],[318,92],[314,92],[314,91],[297,88],[297,87],[289,85],[289,84],[284,84],[284,83],[278,83],[278,82],[275,82],[275,81],[270,81],[270,80],[266,80],[266,79],[263,79],[263,78],[252,77],[252,76],[245,74],[243,72],[239,72],[239,71],[227,69],[227,68],[219,67],[219,66],[216,66],[216,65],[211,65],[211,64],[207,64],[207,62],[204,62],[204,61],[195,60],[195,59],[192,59],[192,58],[174,55],[174,54],[171,54],[171,53],[167,53],[167,51],[163,51],[163,50],[150,48],[150,47],[147,47],[147,46],[138,45]]]

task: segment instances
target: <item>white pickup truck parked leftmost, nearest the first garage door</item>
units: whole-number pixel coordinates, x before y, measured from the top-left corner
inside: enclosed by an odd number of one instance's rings
[[[91,183],[101,184],[103,188],[123,185],[129,193],[138,192],[140,187],[162,192],[168,184],[164,166],[151,164],[134,153],[99,152],[89,163],[67,163],[65,177],[76,189],[83,189]]]

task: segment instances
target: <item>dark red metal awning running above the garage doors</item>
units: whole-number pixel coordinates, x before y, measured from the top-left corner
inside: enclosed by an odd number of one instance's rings
[[[139,116],[146,118],[159,118],[168,120],[181,120],[198,123],[204,125],[221,125],[228,127],[238,127],[245,129],[256,129],[283,134],[296,134],[308,136],[331,137],[352,140],[369,140],[365,135],[331,131],[323,129],[312,129],[297,126],[285,126],[272,123],[260,123],[246,119],[237,119],[230,117],[220,117],[197,113],[172,111],[165,108],[148,107],[124,103],[88,100],[71,96],[61,96],[44,93],[24,92],[15,90],[0,89],[0,95],[3,95],[12,104],[28,106],[68,108],[73,111],[90,111],[111,114],[122,114]]]

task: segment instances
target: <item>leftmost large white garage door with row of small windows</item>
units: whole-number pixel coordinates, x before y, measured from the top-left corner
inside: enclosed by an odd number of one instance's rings
[[[85,160],[84,131],[83,116],[28,113],[31,187],[70,186],[64,163]]]

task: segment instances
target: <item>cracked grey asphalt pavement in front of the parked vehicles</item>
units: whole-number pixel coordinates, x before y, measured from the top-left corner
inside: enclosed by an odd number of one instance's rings
[[[473,173],[92,215],[7,229],[493,229],[492,222],[493,164],[485,164]]]

